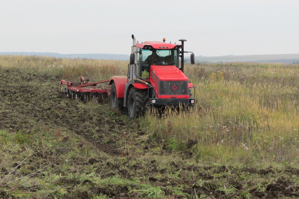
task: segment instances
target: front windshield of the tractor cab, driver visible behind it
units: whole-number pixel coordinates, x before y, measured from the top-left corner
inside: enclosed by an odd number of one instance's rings
[[[150,65],[175,65],[177,66],[177,50],[142,50],[142,63]]]

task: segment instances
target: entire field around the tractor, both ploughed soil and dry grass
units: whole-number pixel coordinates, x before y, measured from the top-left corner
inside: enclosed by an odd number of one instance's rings
[[[57,92],[127,64],[0,56],[0,198],[299,197],[298,64],[186,64],[198,103],[161,117]]]

